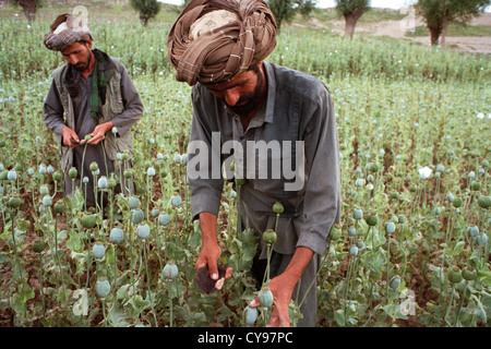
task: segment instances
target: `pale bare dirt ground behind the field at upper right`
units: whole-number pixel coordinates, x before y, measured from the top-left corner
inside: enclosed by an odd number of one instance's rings
[[[322,23],[311,20],[309,24],[314,26],[322,26]],[[491,25],[491,13],[484,13],[471,21],[471,25]],[[332,21],[330,22],[334,32],[344,34],[345,22]],[[390,36],[394,38],[415,40],[430,46],[430,35],[423,37],[407,37],[405,32],[411,26],[424,25],[421,19],[415,19],[409,22],[403,21],[382,21],[378,23],[358,23],[355,35],[363,33],[373,36]],[[470,51],[480,53],[491,53],[491,37],[489,36],[472,36],[472,37],[446,37],[446,46],[451,50]]]

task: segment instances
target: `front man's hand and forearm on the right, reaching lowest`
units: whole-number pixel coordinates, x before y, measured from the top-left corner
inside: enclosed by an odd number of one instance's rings
[[[267,327],[290,327],[290,315],[288,314],[288,305],[295,285],[297,285],[303,270],[312,258],[313,251],[308,248],[297,248],[294,257],[283,274],[274,277],[267,287],[273,293],[273,314]],[[255,308],[260,305],[259,296],[254,298],[249,306]]]

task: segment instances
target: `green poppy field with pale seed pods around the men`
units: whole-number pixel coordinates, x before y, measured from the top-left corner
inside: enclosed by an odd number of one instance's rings
[[[41,40],[71,9],[41,8],[31,28],[16,11],[0,12],[0,326],[263,326],[270,310],[247,309],[261,291],[248,272],[259,241],[236,231],[230,183],[218,231],[232,278],[214,294],[194,284],[190,87],[166,48],[176,8],[146,28],[128,7],[88,9],[96,47],[122,59],[145,106],[125,173],[135,197],[109,195],[106,216],[80,193],[62,200],[43,123],[63,61]],[[318,76],[335,104],[343,208],[318,277],[319,326],[489,326],[490,57],[287,25],[268,60]]]

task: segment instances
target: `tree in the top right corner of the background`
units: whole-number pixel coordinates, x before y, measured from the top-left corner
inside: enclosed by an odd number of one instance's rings
[[[465,24],[474,16],[484,12],[491,0],[418,0],[416,11],[421,15],[430,31],[431,45],[445,47],[448,23]]]

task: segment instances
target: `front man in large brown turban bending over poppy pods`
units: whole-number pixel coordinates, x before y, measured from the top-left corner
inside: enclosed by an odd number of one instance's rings
[[[188,177],[193,219],[200,219],[202,230],[195,265],[207,266],[212,279],[218,278],[221,250],[216,219],[224,179],[215,165],[228,164],[224,146],[233,141],[235,149],[249,151],[255,144],[261,153],[260,144],[283,145],[279,154],[233,154],[246,178],[236,188],[240,190],[240,229],[252,228],[259,234],[276,229],[270,265],[268,288],[274,294],[270,325],[289,326],[290,299],[304,298],[298,326],[315,326],[316,287],[311,284],[328,246],[331,227],[340,215],[337,130],[333,103],[322,82],[264,61],[275,45],[274,15],[259,0],[192,0],[169,32],[168,53],[176,77],[193,86]],[[196,161],[202,154],[208,154],[208,164]],[[288,186],[294,180],[285,171],[265,178],[258,170],[291,161],[301,185]],[[276,202],[284,206],[277,222]],[[260,241],[251,272],[262,281],[267,249]],[[226,278],[230,275],[229,268]],[[250,305],[258,306],[259,298]]]

